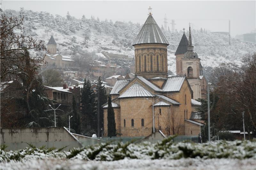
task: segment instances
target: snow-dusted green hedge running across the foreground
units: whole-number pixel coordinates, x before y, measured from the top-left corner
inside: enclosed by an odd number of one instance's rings
[[[63,148],[61,148],[63,149]],[[180,158],[236,158],[256,159],[256,140],[253,141],[216,141],[196,144],[190,142],[173,143],[172,137],[156,144],[148,142],[102,143],[83,148],[74,148],[69,152],[54,148],[36,148],[33,145],[16,151],[0,150],[0,162],[28,159],[83,159],[83,160],[120,160],[130,159],[180,159]]]

